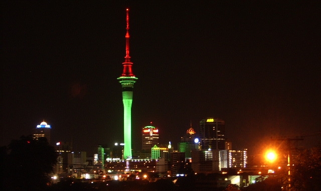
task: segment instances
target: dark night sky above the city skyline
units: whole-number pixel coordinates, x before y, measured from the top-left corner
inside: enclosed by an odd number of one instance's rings
[[[260,3],[258,3],[260,2]],[[52,143],[96,153],[123,139],[125,9],[141,128],[174,147],[221,118],[234,149],[320,144],[320,1],[2,1],[1,145],[45,120]]]

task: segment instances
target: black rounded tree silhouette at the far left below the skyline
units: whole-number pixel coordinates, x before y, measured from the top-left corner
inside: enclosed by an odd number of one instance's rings
[[[2,155],[6,164],[2,169],[5,190],[37,191],[48,187],[57,154],[46,138],[34,140],[31,136],[22,136],[11,141]]]

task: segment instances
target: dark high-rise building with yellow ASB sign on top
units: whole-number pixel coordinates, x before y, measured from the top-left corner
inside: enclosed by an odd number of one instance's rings
[[[221,119],[207,118],[200,122],[202,150],[225,149],[225,122]]]

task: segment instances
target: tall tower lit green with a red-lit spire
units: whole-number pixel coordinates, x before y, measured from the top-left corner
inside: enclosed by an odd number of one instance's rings
[[[126,55],[125,61],[122,63],[123,70],[118,81],[122,87],[122,103],[124,105],[124,159],[131,158],[131,103],[132,103],[132,92],[134,83],[137,77],[132,73],[129,56],[129,9],[126,9]]]

